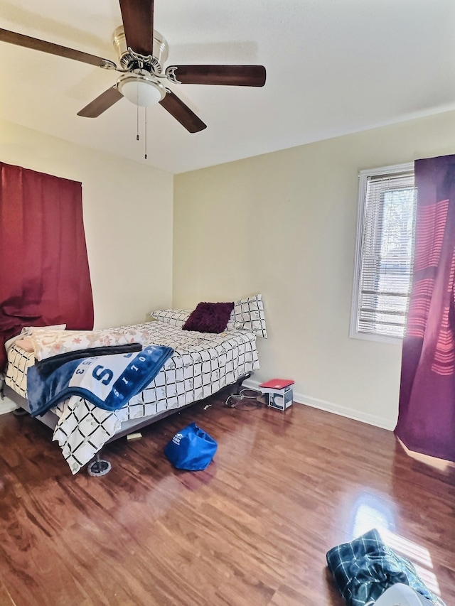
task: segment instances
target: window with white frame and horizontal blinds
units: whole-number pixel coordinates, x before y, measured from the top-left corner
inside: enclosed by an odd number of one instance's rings
[[[405,335],[416,207],[413,164],[360,173],[351,337]]]

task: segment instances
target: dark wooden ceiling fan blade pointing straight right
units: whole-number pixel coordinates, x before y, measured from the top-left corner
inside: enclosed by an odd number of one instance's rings
[[[177,65],[173,70],[182,84],[216,84],[225,86],[264,86],[263,65]],[[167,70],[166,70],[167,71]]]

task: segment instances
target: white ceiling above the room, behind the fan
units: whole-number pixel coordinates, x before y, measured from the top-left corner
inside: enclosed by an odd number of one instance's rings
[[[208,128],[150,108],[145,161],[127,99],[76,116],[115,72],[0,43],[0,117],[181,173],[455,109],[454,0],[155,0],[154,17],[166,65],[259,64],[266,85],[171,86]],[[1,28],[114,61],[121,23],[118,0],[0,4]]]

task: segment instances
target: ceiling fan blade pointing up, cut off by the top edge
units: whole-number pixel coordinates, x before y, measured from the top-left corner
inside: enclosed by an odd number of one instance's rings
[[[127,45],[139,55],[154,50],[154,1],[119,0]]]

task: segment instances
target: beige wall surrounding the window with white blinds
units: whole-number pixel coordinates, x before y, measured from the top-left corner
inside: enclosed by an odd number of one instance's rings
[[[348,337],[358,171],[455,153],[455,112],[177,175],[173,305],[260,292],[256,380],[392,428],[400,345]]]

